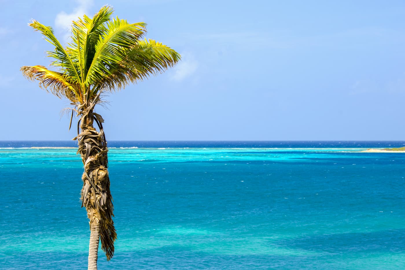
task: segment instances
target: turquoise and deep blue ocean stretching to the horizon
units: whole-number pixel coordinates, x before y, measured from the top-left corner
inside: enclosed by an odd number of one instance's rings
[[[99,269],[404,269],[405,141],[110,141]],[[0,141],[0,268],[85,269],[74,141]]]

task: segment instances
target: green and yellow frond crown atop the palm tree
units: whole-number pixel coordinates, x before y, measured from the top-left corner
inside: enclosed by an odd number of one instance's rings
[[[28,79],[38,80],[41,88],[80,106],[94,100],[100,92],[120,90],[161,73],[180,60],[170,47],[142,39],[145,23],[111,19],[112,13],[111,6],[103,6],[93,18],[84,15],[73,21],[72,42],[66,47],[56,39],[51,27],[32,21],[29,26],[55,46],[47,55],[54,59],[51,66],[59,70],[23,66],[21,71]]]

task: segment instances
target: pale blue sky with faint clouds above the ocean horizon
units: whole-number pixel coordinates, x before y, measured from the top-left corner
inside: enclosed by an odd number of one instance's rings
[[[0,140],[69,140],[69,106],[26,80],[108,4],[182,60],[96,107],[107,140],[405,140],[404,1],[0,0]]]

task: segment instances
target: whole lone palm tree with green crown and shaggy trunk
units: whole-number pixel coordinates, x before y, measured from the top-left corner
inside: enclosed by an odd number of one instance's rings
[[[55,49],[47,51],[56,71],[45,66],[23,66],[23,75],[39,81],[39,86],[59,98],[67,98],[77,114],[77,137],[84,165],[81,206],[90,220],[88,269],[97,269],[98,243],[110,260],[117,238],[108,174],[107,141],[103,118],[94,111],[104,93],[115,92],[162,73],[180,60],[170,47],[143,39],[146,24],[129,24],[112,18],[113,8],[103,6],[93,18],[83,15],[72,22],[72,41],[66,47],[56,39],[53,30],[33,20],[29,26],[45,36]],[[94,127],[96,123],[96,129]],[[69,126],[69,129],[70,129]],[[79,133],[80,129],[80,133]]]

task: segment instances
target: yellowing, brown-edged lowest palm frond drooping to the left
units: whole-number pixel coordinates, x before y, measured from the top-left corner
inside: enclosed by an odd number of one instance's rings
[[[77,103],[80,100],[78,86],[72,84],[71,78],[63,73],[50,71],[45,66],[22,66],[21,71],[24,77],[39,81],[39,87],[51,92],[59,98],[67,97],[70,101]]]

